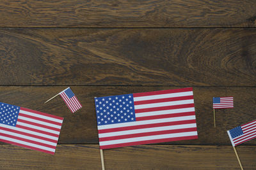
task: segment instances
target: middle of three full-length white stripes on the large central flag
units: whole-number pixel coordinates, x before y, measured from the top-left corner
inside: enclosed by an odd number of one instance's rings
[[[119,132],[108,132],[99,134],[99,138],[105,138],[110,136],[120,136],[125,134],[139,134],[139,133],[145,133],[145,132],[157,132],[157,131],[168,131],[168,130],[174,130],[174,129],[185,129],[185,128],[191,128],[196,127],[196,124],[184,124],[184,125],[168,125],[168,126],[162,126],[162,127],[150,127],[145,129],[134,129],[130,131],[119,131]]]

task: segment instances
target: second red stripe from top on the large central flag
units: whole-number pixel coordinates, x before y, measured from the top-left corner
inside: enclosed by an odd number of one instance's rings
[[[189,100],[189,99],[193,99],[193,96],[170,97],[170,98],[153,99],[153,100],[147,100],[147,101],[134,101],[134,105],[162,103],[162,102],[168,102],[168,101],[182,101],[182,100]]]

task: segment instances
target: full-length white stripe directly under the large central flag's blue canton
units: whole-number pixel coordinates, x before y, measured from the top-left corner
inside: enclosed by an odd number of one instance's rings
[[[120,124],[109,124],[109,125],[98,125],[98,130],[102,129],[111,129],[116,127],[129,127],[134,125],[145,125],[145,124],[157,124],[157,123],[164,123],[164,122],[175,122],[181,120],[195,120],[195,115],[187,116],[187,117],[174,117],[174,118],[159,118],[154,120],[141,120],[138,122],[125,122]]]

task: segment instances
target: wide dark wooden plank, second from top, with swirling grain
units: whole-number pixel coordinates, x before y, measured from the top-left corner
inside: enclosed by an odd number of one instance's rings
[[[0,29],[0,85],[255,86],[255,29]]]

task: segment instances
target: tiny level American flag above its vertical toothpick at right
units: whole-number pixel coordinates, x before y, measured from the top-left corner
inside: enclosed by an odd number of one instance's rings
[[[234,99],[233,97],[213,97],[213,108],[234,108]]]

